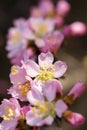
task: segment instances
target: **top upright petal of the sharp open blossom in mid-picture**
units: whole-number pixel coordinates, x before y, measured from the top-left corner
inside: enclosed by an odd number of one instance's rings
[[[41,53],[38,56],[39,65],[43,69],[49,68],[50,65],[53,63],[53,60],[54,60],[54,57],[53,57],[53,54],[51,52]]]

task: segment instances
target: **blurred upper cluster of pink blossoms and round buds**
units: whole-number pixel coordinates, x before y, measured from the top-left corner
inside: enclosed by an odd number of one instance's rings
[[[36,60],[40,52],[56,53],[66,38],[81,36],[87,27],[80,21],[66,25],[64,18],[71,9],[66,0],[40,0],[38,6],[30,8],[27,19],[14,20],[7,34],[6,50],[12,64],[20,65],[21,59]]]

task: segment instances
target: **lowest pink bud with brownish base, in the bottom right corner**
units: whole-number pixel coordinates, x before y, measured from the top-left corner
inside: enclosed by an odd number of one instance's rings
[[[73,126],[79,126],[85,122],[85,118],[81,114],[71,111],[66,111],[64,117]]]

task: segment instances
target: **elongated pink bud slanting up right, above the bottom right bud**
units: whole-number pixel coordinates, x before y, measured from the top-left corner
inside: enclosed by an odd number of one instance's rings
[[[82,82],[77,82],[74,87],[71,89],[71,91],[68,93],[68,95],[73,95],[74,99],[79,98],[83,92],[85,91],[85,86]]]

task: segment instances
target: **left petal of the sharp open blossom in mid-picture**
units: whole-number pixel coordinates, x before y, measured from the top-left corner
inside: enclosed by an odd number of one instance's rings
[[[35,77],[39,73],[39,66],[33,60],[28,60],[27,62],[22,62],[23,67],[26,69],[26,73],[30,77]]]

